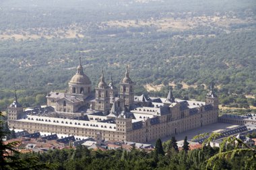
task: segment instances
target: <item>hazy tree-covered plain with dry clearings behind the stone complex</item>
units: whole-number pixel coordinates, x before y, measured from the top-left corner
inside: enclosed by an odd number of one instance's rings
[[[170,83],[177,97],[203,99],[214,80],[221,103],[256,105],[245,97],[256,93],[255,3],[177,2],[1,1],[0,108],[14,87],[26,105],[65,90],[79,54],[94,86],[102,68],[119,83],[129,65],[138,94],[152,83],[166,95]]]

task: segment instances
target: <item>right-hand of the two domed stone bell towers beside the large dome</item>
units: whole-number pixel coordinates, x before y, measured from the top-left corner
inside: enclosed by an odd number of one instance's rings
[[[121,82],[121,88],[120,88],[120,97],[123,99],[125,103],[125,107],[129,108],[131,104],[134,103],[134,91],[133,91],[134,83],[131,81],[131,78],[129,77],[129,71],[128,66],[125,72],[125,78],[123,78],[123,81]]]

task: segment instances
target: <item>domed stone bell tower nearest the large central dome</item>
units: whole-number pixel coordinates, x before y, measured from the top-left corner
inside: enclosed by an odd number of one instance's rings
[[[104,73],[102,70],[102,76],[100,77],[100,83],[98,83],[98,87],[96,87],[96,105],[95,110],[104,112],[104,115],[107,115],[110,110],[110,97],[108,94],[109,87],[106,85],[104,79]]]

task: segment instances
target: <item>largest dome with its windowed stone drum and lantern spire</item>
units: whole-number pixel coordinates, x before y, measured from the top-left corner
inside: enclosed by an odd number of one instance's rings
[[[92,82],[89,77],[84,74],[84,68],[81,64],[81,57],[79,57],[79,65],[77,66],[77,73],[69,81],[69,93],[88,95],[92,89]]]

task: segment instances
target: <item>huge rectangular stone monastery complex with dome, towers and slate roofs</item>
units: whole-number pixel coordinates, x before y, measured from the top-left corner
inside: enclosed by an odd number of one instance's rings
[[[120,91],[104,73],[95,92],[79,58],[77,73],[65,93],[48,93],[47,106],[24,111],[15,101],[8,108],[9,127],[28,132],[53,132],[104,140],[148,142],[218,122],[218,97],[211,85],[205,101],[134,95],[128,67]]]

